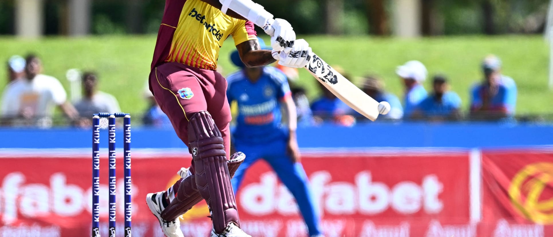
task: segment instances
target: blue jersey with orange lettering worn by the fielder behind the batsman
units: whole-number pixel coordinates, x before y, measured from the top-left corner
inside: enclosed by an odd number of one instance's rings
[[[290,94],[286,76],[279,69],[264,67],[255,83],[244,71],[227,76],[228,102],[238,104],[238,117],[233,138],[236,141],[267,141],[283,135],[280,102]]]

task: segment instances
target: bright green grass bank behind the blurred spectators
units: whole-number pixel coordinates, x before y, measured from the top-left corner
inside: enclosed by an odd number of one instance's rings
[[[547,88],[549,47],[541,36],[462,36],[444,38],[395,39],[335,36],[306,36],[314,51],[331,65],[350,73],[354,83],[368,73],[381,76],[386,88],[401,97],[402,86],[395,68],[408,60],[420,60],[430,76],[445,73],[451,87],[468,108],[468,89],[481,80],[480,63],[487,54],[503,60],[505,75],[518,84],[517,114],[553,112],[553,92]],[[267,41],[268,42],[268,41]],[[155,36],[95,36],[88,38],[43,38],[20,40],[0,38],[0,60],[13,54],[38,54],[44,73],[57,77],[69,89],[65,78],[68,69],[97,71],[100,89],[117,97],[124,112],[140,113]],[[229,40],[219,57],[223,74],[236,70],[228,59],[233,50]],[[6,85],[6,73],[0,73],[0,91]],[[309,97],[319,93],[316,81],[300,70],[299,83],[307,87]],[[425,82],[431,89],[431,81]]]

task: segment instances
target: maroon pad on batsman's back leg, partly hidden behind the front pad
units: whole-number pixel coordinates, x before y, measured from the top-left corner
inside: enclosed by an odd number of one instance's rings
[[[231,178],[245,158],[246,155],[242,152],[236,152],[231,156],[231,160],[227,162],[228,172]],[[180,217],[204,199],[196,187],[196,175],[190,175],[181,179],[179,185],[180,187],[176,189],[175,199],[173,199],[173,202],[161,212],[161,218],[166,221],[171,221]]]

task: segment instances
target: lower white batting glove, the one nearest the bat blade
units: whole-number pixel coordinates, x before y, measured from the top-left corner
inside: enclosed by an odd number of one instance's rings
[[[291,47],[280,52],[273,49],[273,57],[279,60],[278,64],[285,67],[305,67],[309,63],[307,57],[312,52],[307,41],[299,39],[290,45]]]

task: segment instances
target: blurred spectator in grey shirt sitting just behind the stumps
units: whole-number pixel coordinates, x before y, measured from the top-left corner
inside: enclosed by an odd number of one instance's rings
[[[111,94],[98,91],[98,76],[94,72],[82,74],[82,98],[75,103],[80,127],[92,125],[92,114],[119,113],[119,103]]]

